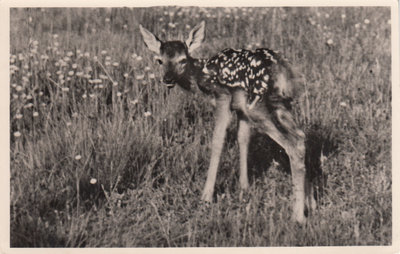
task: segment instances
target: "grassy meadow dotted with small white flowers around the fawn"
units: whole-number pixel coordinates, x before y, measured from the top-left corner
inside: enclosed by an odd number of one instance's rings
[[[392,241],[389,8],[12,9],[13,247],[327,246]],[[236,124],[200,202],[213,111],[160,85],[139,24],[196,52],[268,47],[307,83],[296,119],[318,209],[290,222],[287,157],[254,135],[239,200]]]

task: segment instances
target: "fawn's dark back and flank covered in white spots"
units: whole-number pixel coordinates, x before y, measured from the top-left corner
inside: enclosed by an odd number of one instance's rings
[[[225,49],[206,62],[203,73],[211,84],[244,89],[249,99],[265,94],[295,97],[293,83],[278,82],[280,75],[286,80],[294,74],[287,60],[271,49]]]

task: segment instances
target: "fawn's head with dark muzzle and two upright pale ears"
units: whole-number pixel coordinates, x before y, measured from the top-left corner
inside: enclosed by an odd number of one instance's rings
[[[185,41],[162,41],[140,25],[140,32],[147,48],[156,54],[163,67],[163,82],[169,87],[176,84],[190,89],[190,75],[193,70],[193,58],[190,54],[198,48],[205,38],[205,23],[194,27]]]

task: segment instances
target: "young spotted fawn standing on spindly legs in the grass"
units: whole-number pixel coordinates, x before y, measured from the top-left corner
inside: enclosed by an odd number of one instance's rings
[[[249,187],[247,153],[251,130],[256,129],[269,135],[288,154],[295,199],[292,218],[305,223],[306,201],[313,209],[315,200],[312,188],[306,184],[305,135],[290,112],[296,77],[288,62],[269,49],[225,49],[210,59],[195,59],[191,54],[205,38],[204,21],[191,30],[185,42],[161,41],[141,25],[140,32],[147,48],[162,64],[163,82],[169,88],[177,84],[216,100],[212,153],[202,200],[212,201],[226,129],[235,111],[239,121],[241,189]]]

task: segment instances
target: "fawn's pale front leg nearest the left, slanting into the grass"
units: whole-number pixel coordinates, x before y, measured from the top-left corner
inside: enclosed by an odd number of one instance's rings
[[[232,118],[230,110],[230,95],[220,95],[220,97],[217,98],[216,103],[215,128],[211,144],[210,167],[208,168],[207,181],[201,197],[202,200],[207,202],[212,201],[219,160],[225,141],[226,129],[228,128]]]

